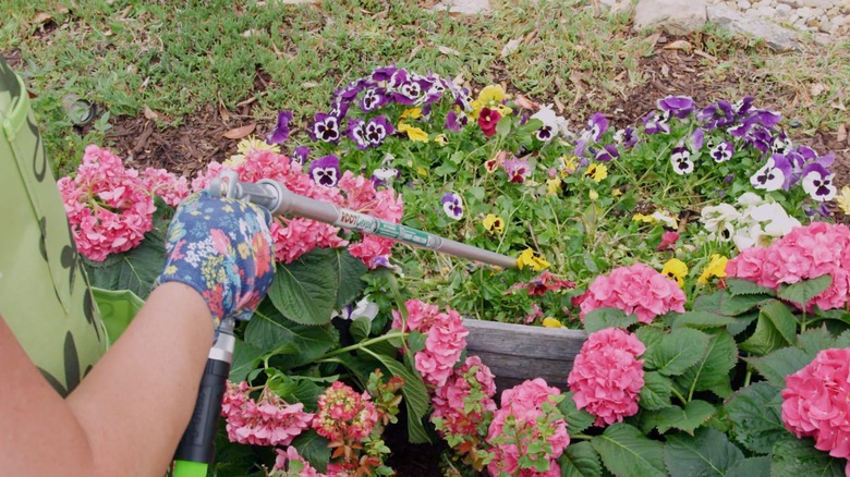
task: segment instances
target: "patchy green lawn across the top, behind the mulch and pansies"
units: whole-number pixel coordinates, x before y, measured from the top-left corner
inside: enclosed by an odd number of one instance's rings
[[[336,88],[394,63],[460,76],[471,86],[506,83],[583,119],[646,81],[639,61],[654,47],[648,35],[630,32],[627,15],[600,14],[582,0],[494,3],[488,16],[454,17],[401,0],[12,0],[0,7],[0,50],[21,50],[22,73],[37,95],[36,114],[60,171],[75,166],[85,144],[102,143],[109,127],[109,118],[101,118],[85,137],[74,133],[62,111],[68,94],[102,105],[112,118],[148,107],[163,127],[208,106],[233,111],[244,101],[254,101],[262,124],[279,109],[293,110],[295,123],[304,124]],[[34,22],[45,13],[54,25]],[[798,95],[792,114],[800,111],[810,133],[846,118],[830,105],[849,90],[847,44],[826,54],[770,56],[711,28],[701,37],[706,52],[721,58],[706,80],[739,78],[730,96],[778,88],[793,97],[815,81],[824,91]],[[502,57],[512,39],[521,39],[519,49]],[[270,78],[265,89],[255,87],[259,72]]]

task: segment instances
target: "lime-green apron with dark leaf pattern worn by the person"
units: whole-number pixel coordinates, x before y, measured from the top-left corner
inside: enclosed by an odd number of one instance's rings
[[[66,395],[107,335],[23,82],[0,57],[0,315]]]

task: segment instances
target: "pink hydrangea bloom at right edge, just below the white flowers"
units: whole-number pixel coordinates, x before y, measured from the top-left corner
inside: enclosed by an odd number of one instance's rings
[[[806,306],[842,308],[850,299],[850,229],[826,222],[797,227],[769,247],[741,252],[726,273],[772,289],[829,274],[833,283]]]

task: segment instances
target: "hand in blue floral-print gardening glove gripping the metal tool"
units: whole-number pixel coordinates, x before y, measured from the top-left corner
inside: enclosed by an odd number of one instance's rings
[[[216,328],[247,320],[275,276],[269,212],[206,191],[183,200],[168,228],[166,267],[156,284],[180,282],[207,302]]]

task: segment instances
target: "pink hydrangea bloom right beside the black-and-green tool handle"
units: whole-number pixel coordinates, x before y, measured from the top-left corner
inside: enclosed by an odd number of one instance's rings
[[[287,404],[268,388],[259,401],[254,401],[244,381],[228,381],[221,415],[231,442],[253,445],[289,445],[313,420],[313,414],[304,412],[304,404]]]

